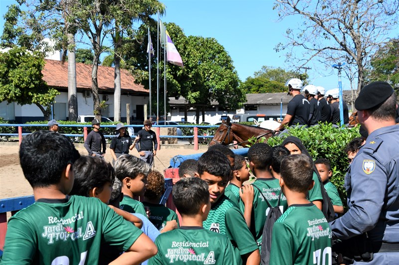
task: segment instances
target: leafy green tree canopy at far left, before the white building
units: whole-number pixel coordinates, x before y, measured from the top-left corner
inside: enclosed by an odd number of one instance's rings
[[[59,92],[42,80],[43,67],[44,59],[38,52],[31,53],[23,47],[0,52],[0,101],[36,104],[48,117],[49,105]]]

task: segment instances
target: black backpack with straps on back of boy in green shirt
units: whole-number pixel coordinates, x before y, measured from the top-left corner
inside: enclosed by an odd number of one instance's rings
[[[270,250],[271,250],[271,235],[273,232],[273,226],[274,223],[277,221],[277,219],[282,215],[281,210],[280,210],[280,198],[281,198],[281,191],[280,195],[278,196],[278,203],[276,207],[272,207],[269,203],[269,201],[265,198],[263,195],[262,191],[260,189],[253,185],[257,190],[259,190],[259,193],[262,195],[263,199],[266,201],[267,206],[269,207],[269,212],[267,213],[267,218],[265,221],[265,225],[263,226],[263,231],[262,231],[262,245],[261,245],[261,256],[260,256],[260,264],[261,265],[269,265],[270,261]]]

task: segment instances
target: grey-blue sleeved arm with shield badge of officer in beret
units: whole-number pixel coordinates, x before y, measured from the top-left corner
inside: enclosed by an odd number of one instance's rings
[[[385,168],[367,153],[356,157],[348,174],[352,188],[349,210],[330,223],[333,237],[340,239],[363,234],[376,226],[387,188]]]

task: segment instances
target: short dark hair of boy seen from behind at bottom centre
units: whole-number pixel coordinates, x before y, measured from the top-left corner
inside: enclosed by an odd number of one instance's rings
[[[174,185],[172,198],[180,214],[194,216],[209,202],[208,184],[199,177],[184,177]]]

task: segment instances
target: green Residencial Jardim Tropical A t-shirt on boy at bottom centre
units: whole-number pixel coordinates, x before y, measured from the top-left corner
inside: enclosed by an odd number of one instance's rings
[[[198,226],[182,226],[161,234],[155,245],[158,253],[150,259],[149,265],[237,264],[233,246],[226,236]]]

